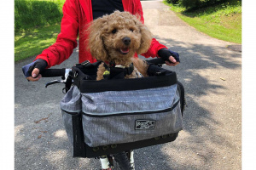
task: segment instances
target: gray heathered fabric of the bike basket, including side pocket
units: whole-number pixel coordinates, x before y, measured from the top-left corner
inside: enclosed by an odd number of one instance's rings
[[[81,93],[73,86],[61,100],[61,110],[72,144],[72,116],[68,115],[82,112],[84,142],[90,147],[151,139],[183,129],[177,83],[96,93]]]

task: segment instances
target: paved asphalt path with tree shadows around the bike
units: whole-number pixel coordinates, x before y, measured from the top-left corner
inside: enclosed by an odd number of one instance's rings
[[[241,52],[196,31],[160,1],[143,1],[154,37],[180,54],[177,71],[188,107],[176,141],[135,151],[136,169],[241,169]],[[78,63],[79,49],[56,68]],[[95,159],[73,158],[61,120],[62,84],[27,82],[15,63],[15,169],[99,169]]]

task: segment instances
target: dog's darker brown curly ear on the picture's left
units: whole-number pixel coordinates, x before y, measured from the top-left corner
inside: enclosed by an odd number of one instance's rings
[[[90,50],[90,54],[95,57],[97,60],[104,61],[107,59],[108,54],[106,49],[104,48],[104,42],[102,37],[102,25],[106,23],[108,20],[104,18],[99,18],[93,20],[88,28],[88,50]]]

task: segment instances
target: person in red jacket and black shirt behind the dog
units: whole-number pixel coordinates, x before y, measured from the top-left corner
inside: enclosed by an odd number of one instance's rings
[[[78,36],[79,63],[85,60],[89,60],[91,63],[96,62],[96,59],[86,50],[87,44],[85,40],[89,34],[86,29],[90,21],[104,14],[111,14],[114,10],[138,14],[144,23],[143,8],[140,0],[66,0],[62,8],[61,33],[53,45],[44,49],[42,54],[36,57],[29,68],[31,76],[26,77],[26,79],[38,81],[41,78],[40,71],[54,65],[60,65],[64,60],[68,59],[73,53],[73,48],[78,45]],[[146,58],[161,57],[166,60],[167,65],[177,65],[179,63],[178,54],[168,50],[166,46],[160,44],[154,38],[148,52],[142,55]]]

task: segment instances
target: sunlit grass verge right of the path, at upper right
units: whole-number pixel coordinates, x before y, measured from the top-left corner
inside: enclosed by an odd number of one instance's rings
[[[164,2],[166,3],[166,2]],[[211,37],[241,43],[241,2],[230,1],[195,11],[166,3],[177,16]]]

